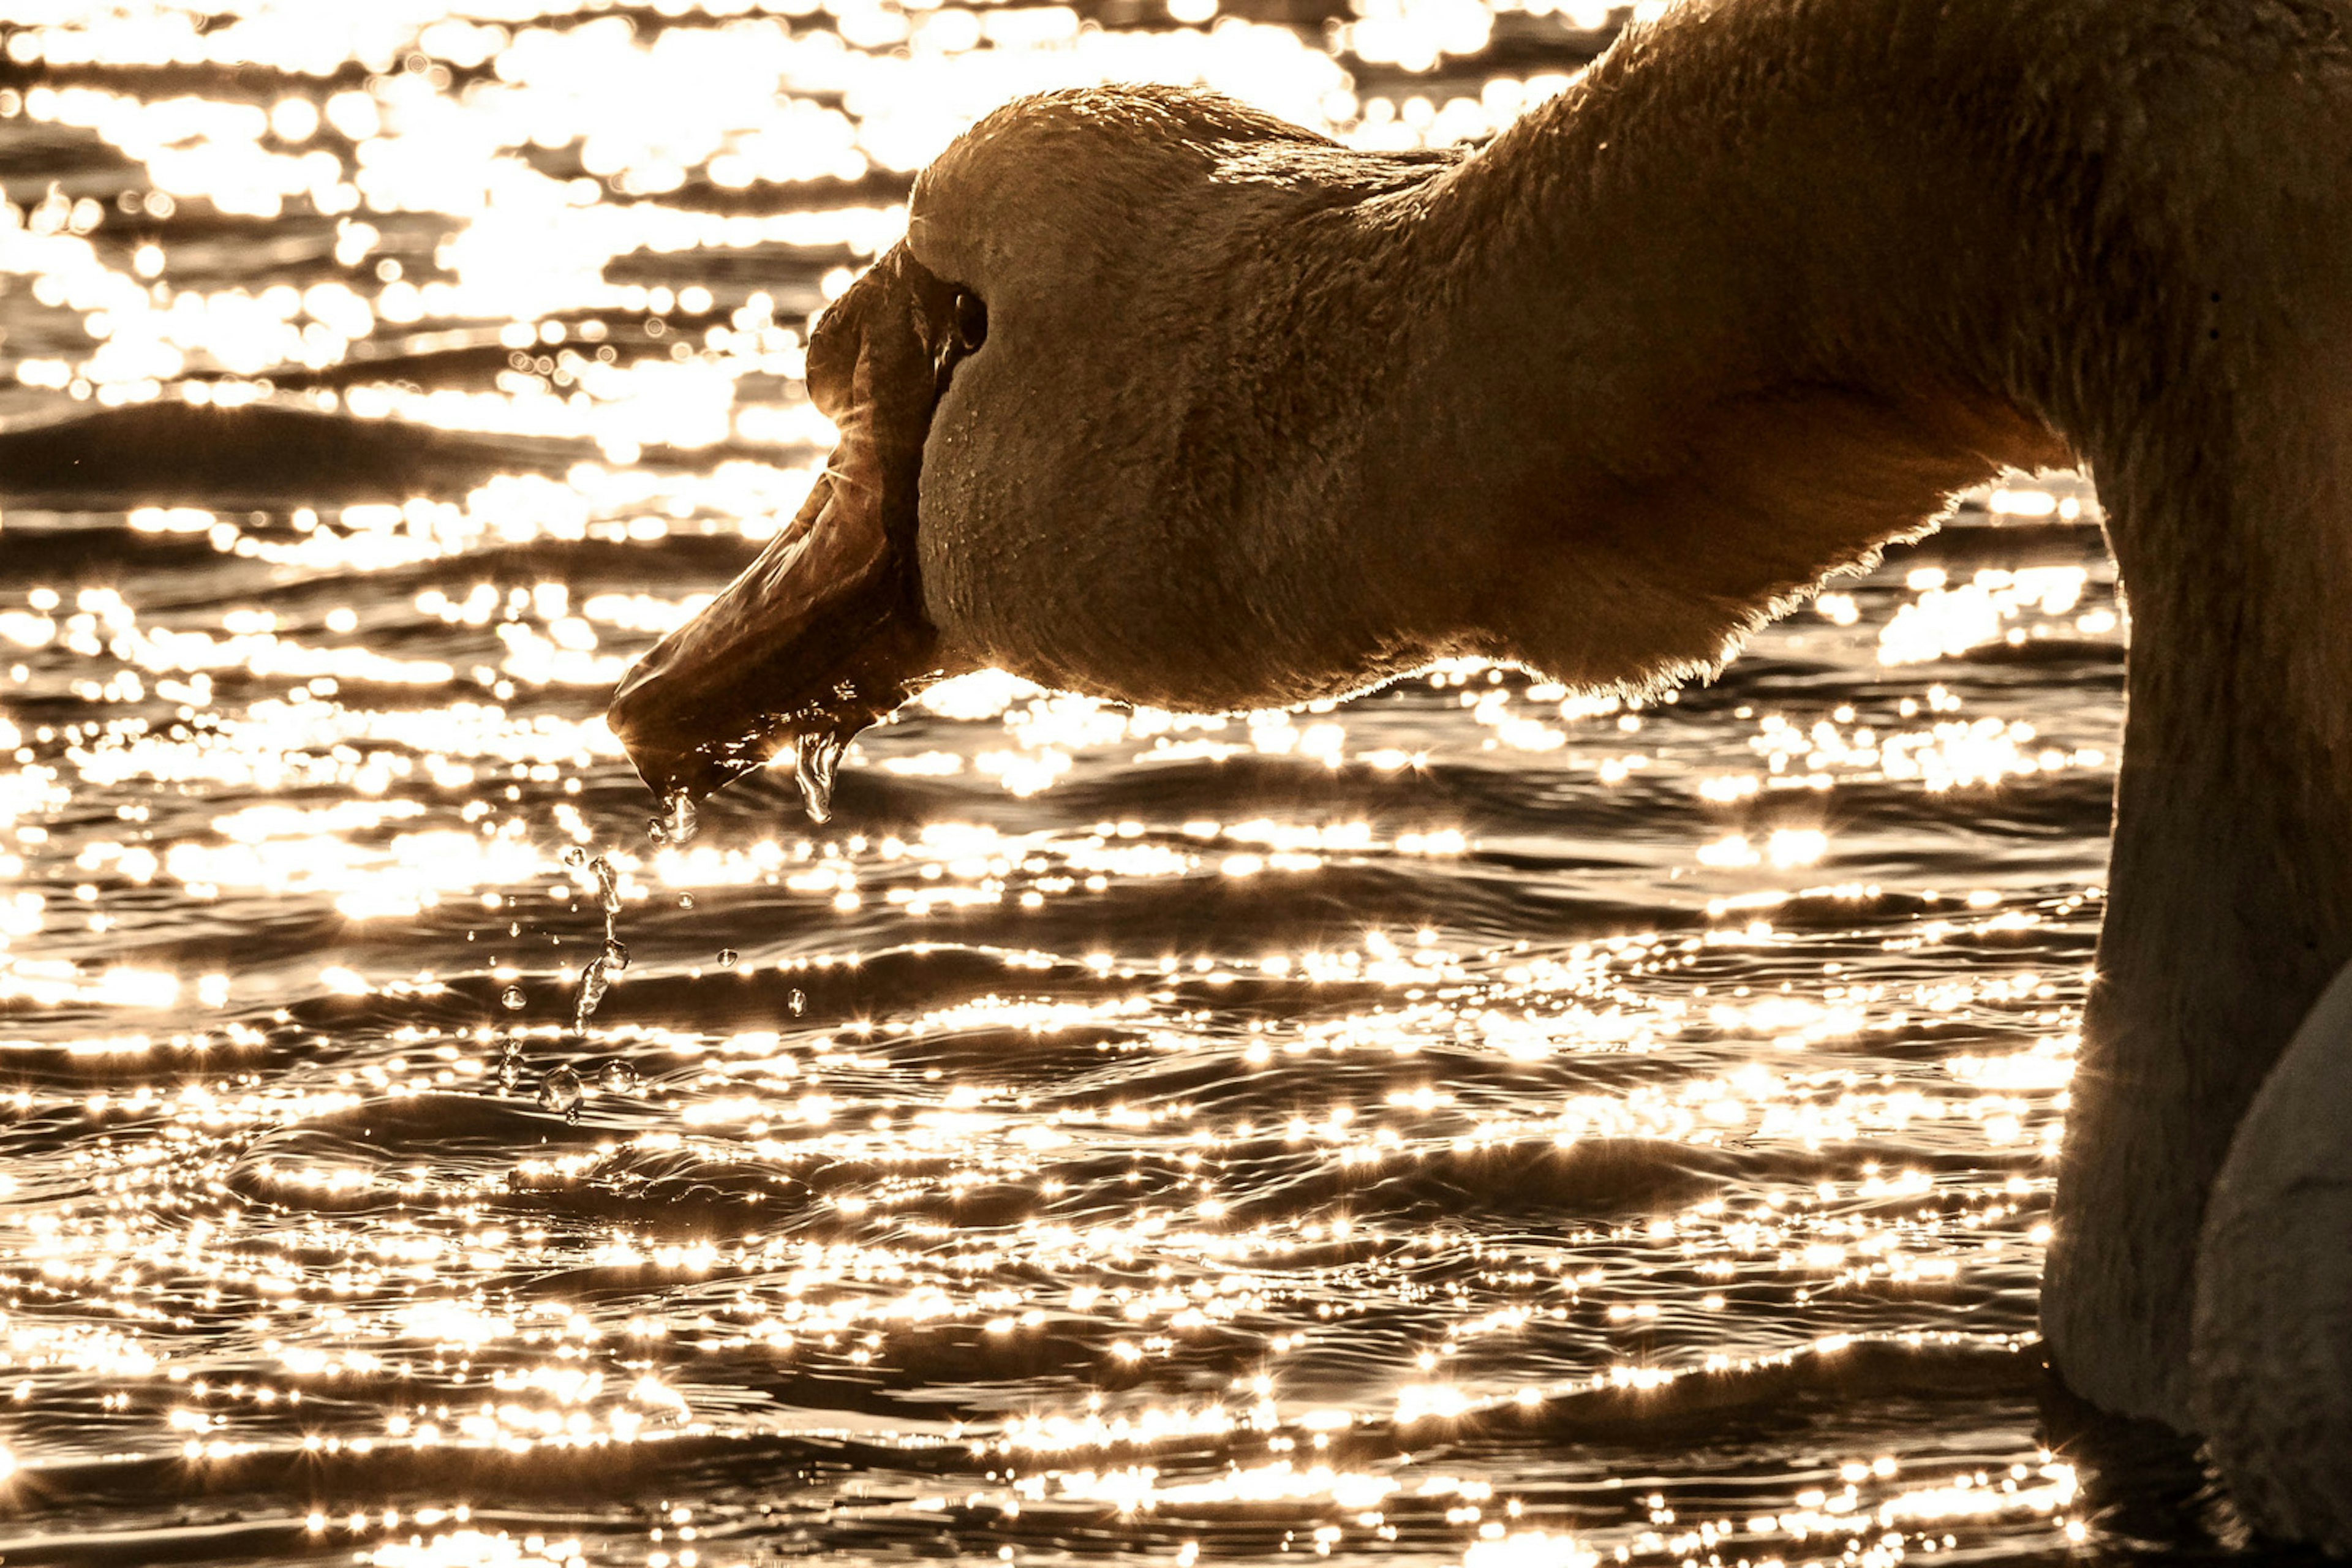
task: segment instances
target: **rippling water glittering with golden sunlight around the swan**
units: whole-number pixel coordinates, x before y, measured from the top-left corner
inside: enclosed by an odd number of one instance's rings
[[[699,832],[597,719],[974,113],[1477,136],[1606,14],[668,9],[0,45],[7,1563],[2234,1547],[2037,1361],[2084,487],[1642,710],[971,677]]]

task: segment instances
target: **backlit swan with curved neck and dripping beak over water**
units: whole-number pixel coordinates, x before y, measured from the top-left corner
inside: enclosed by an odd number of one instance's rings
[[[1472,153],[1023,99],[816,327],[828,473],[609,722],[691,797],[981,665],[1653,689],[2084,463],[2133,642],[2046,1354],[2352,1552],[2347,216],[2345,0],[1686,0]]]

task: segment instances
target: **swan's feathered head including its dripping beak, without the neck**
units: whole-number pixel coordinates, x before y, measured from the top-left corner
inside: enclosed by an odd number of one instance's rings
[[[1265,270],[1272,230],[1430,162],[1185,89],[1058,92],[974,125],[811,334],[840,447],[800,517],[614,693],[647,783],[706,795],[988,665],[1202,710],[1451,651],[1367,616],[1367,569],[1301,503],[1343,454],[1287,418],[1315,343],[1265,322],[1289,277]]]

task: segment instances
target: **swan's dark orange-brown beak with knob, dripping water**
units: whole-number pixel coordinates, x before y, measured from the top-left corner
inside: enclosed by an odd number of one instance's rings
[[[701,799],[795,738],[847,743],[938,677],[915,576],[922,442],[955,292],[906,249],[809,339],[809,397],[840,444],[793,524],[621,679],[604,710],[663,799]]]

